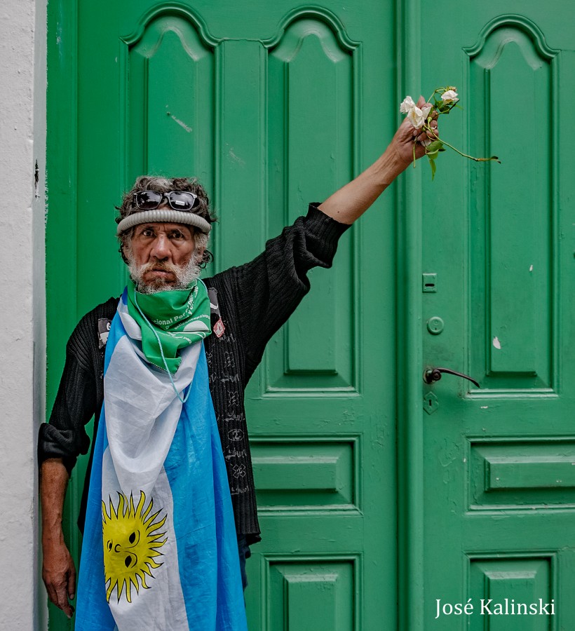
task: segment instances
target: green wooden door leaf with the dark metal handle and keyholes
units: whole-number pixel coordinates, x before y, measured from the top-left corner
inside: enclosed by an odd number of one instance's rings
[[[564,104],[574,95],[575,20],[566,2],[442,6],[449,22],[438,13],[421,29],[422,50],[436,48],[422,55],[421,76],[430,92],[456,85],[464,108],[442,133],[502,164],[442,154],[435,182],[421,169],[421,273],[436,276],[417,278],[417,373],[445,366],[481,388],[446,375],[421,392],[431,412],[421,412],[417,515],[424,607],[410,629],[567,630],[575,625],[575,214]],[[447,613],[435,619],[437,599]],[[553,599],[554,615],[539,599]],[[449,605],[467,602],[474,613],[449,615]]]

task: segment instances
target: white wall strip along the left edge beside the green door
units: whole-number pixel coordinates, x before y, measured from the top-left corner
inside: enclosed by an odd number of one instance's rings
[[[0,205],[0,628],[31,631],[46,626],[36,468],[46,372],[46,0],[2,1],[0,95],[8,196]]]

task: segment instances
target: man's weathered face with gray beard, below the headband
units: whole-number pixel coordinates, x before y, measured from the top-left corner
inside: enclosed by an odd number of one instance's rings
[[[126,252],[137,285],[151,291],[183,289],[197,278],[203,255],[196,248],[194,228],[184,224],[150,223],[135,227]],[[193,278],[192,278],[193,277]]]

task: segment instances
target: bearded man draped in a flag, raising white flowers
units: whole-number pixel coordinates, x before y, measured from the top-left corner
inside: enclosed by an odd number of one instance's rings
[[[237,588],[245,587],[245,557],[259,541],[259,526],[244,388],[267,341],[309,290],[309,269],[331,266],[339,236],[414,152],[424,154],[426,139],[416,133],[404,121],[377,162],[310,205],[262,255],[203,282],[213,219],[202,187],[142,177],[124,197],[118,234],[130,283],[120,300],[97,306],[74,330],[39,439],[43,580],[50,600],[71,617],[76,573],[62,506],[76,456],[88,451],[84,425],[95,414],[79,517],[81,529],[86,520],[76,618],[82,629],[111,631],[114,622],[119,629],[245,628]],[[241,488],[238,470],[245,474]],[[182,506],[190,511],[184,519]],[[200,568],[200,580],[184,576],[184,566]],[[170,572],[179,581],[175,590],[162,587]]]

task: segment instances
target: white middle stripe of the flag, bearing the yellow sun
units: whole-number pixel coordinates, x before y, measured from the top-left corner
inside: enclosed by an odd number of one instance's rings
[[[130,334],[140,332],[128,313],[121,313],[121,319]],[[109,442],[102,462],[107,595],[119,631],[184,631],[189,623],[173,498],[163,468],[182,402],[168,374],[142,356],[140,339],[119,339],[104,378]],[[201,344],[182,349],[182,362],[172,376],[179,392],[193,381],[200,352]]]

